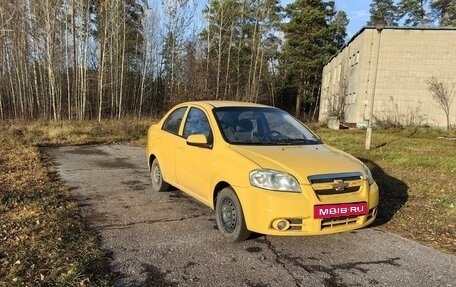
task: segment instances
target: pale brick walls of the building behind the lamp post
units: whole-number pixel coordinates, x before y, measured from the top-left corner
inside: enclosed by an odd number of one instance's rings
[[[319,120],[344,95],[345,121],[367,123],[379,51],[374,119],[445,127],[445,113],[428,90],[435,77],[454,90],[450,119],[456,124],[456,29],[386,28],[380,50],[378,43],[378,32],[364,28],[324,67]]]

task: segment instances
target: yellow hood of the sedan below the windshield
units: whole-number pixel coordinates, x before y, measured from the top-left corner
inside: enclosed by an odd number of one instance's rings
[[[235,152],[261,168],[287,172],[301,183],[317,174],[361,172],[362,163],[355,157],[327,145],[247,146],[231,145]]]

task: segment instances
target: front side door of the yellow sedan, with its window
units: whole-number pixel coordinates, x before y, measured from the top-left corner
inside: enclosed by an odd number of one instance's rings
[[[179,186],[187,193],[209,204],[214,163],[212,148],[188,145],[186,139],[192,134],[204,134],[213,144],[208,117],[198,107],[191,107],[185,119],[182,140],[176,149],[176,177]]]

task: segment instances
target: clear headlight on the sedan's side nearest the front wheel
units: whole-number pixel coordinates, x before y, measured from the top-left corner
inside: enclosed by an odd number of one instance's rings
[[[292,175],[270,169],[251,171],[250,184],[268,190],[301,192],[298,181]]]

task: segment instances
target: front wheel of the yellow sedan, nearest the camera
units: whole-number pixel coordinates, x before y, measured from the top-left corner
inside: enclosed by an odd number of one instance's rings
[[[231,241],[246,240],[251,235],[245,224],[244,213],[236,193],[225,187],[217,195],[215,213],[218,229]]]

